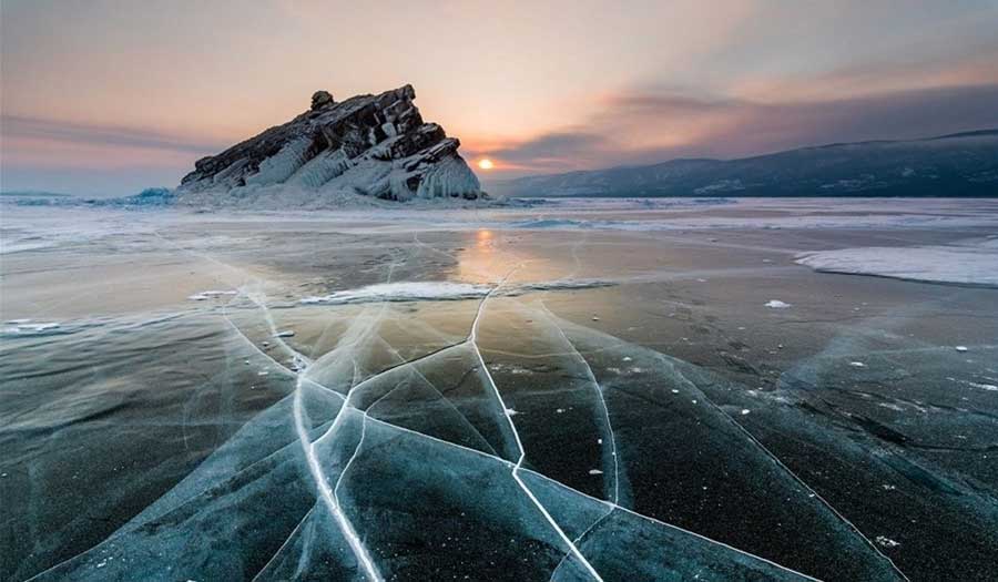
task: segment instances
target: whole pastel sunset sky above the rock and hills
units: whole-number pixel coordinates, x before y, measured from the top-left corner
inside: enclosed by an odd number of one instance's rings
[[[998,127],[998,0],[0,0],[0,188],[122,195],[411,83],[490,180]]]

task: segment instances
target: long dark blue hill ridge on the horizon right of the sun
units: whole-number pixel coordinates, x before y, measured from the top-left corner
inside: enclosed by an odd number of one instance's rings
[[[527,176],[507,196],[998,196],[998,130]]]

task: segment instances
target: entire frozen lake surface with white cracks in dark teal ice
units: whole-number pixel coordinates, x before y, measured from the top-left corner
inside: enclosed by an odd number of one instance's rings
[[[4,580],[988,580],[998,201],[0,207]]]

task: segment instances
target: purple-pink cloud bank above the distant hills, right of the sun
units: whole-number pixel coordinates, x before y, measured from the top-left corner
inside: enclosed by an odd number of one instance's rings
[[[500,164],[512,162],[500,166],[511,170],[506,176],[673,157],[741,157],[832,142],[996,127],[995,103],[998,83],[772,102],[623,92],[607,98],[585,123],[480,153]]]

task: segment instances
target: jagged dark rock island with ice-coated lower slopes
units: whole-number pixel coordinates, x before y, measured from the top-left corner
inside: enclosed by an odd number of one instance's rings
[[[479,197],[460,142],[425,123],[415,98],[411,85],[339,103],[317,91],[309,111],[195,162],[177,188],[180,201],[279,197],[283,190],[397,201]]]

